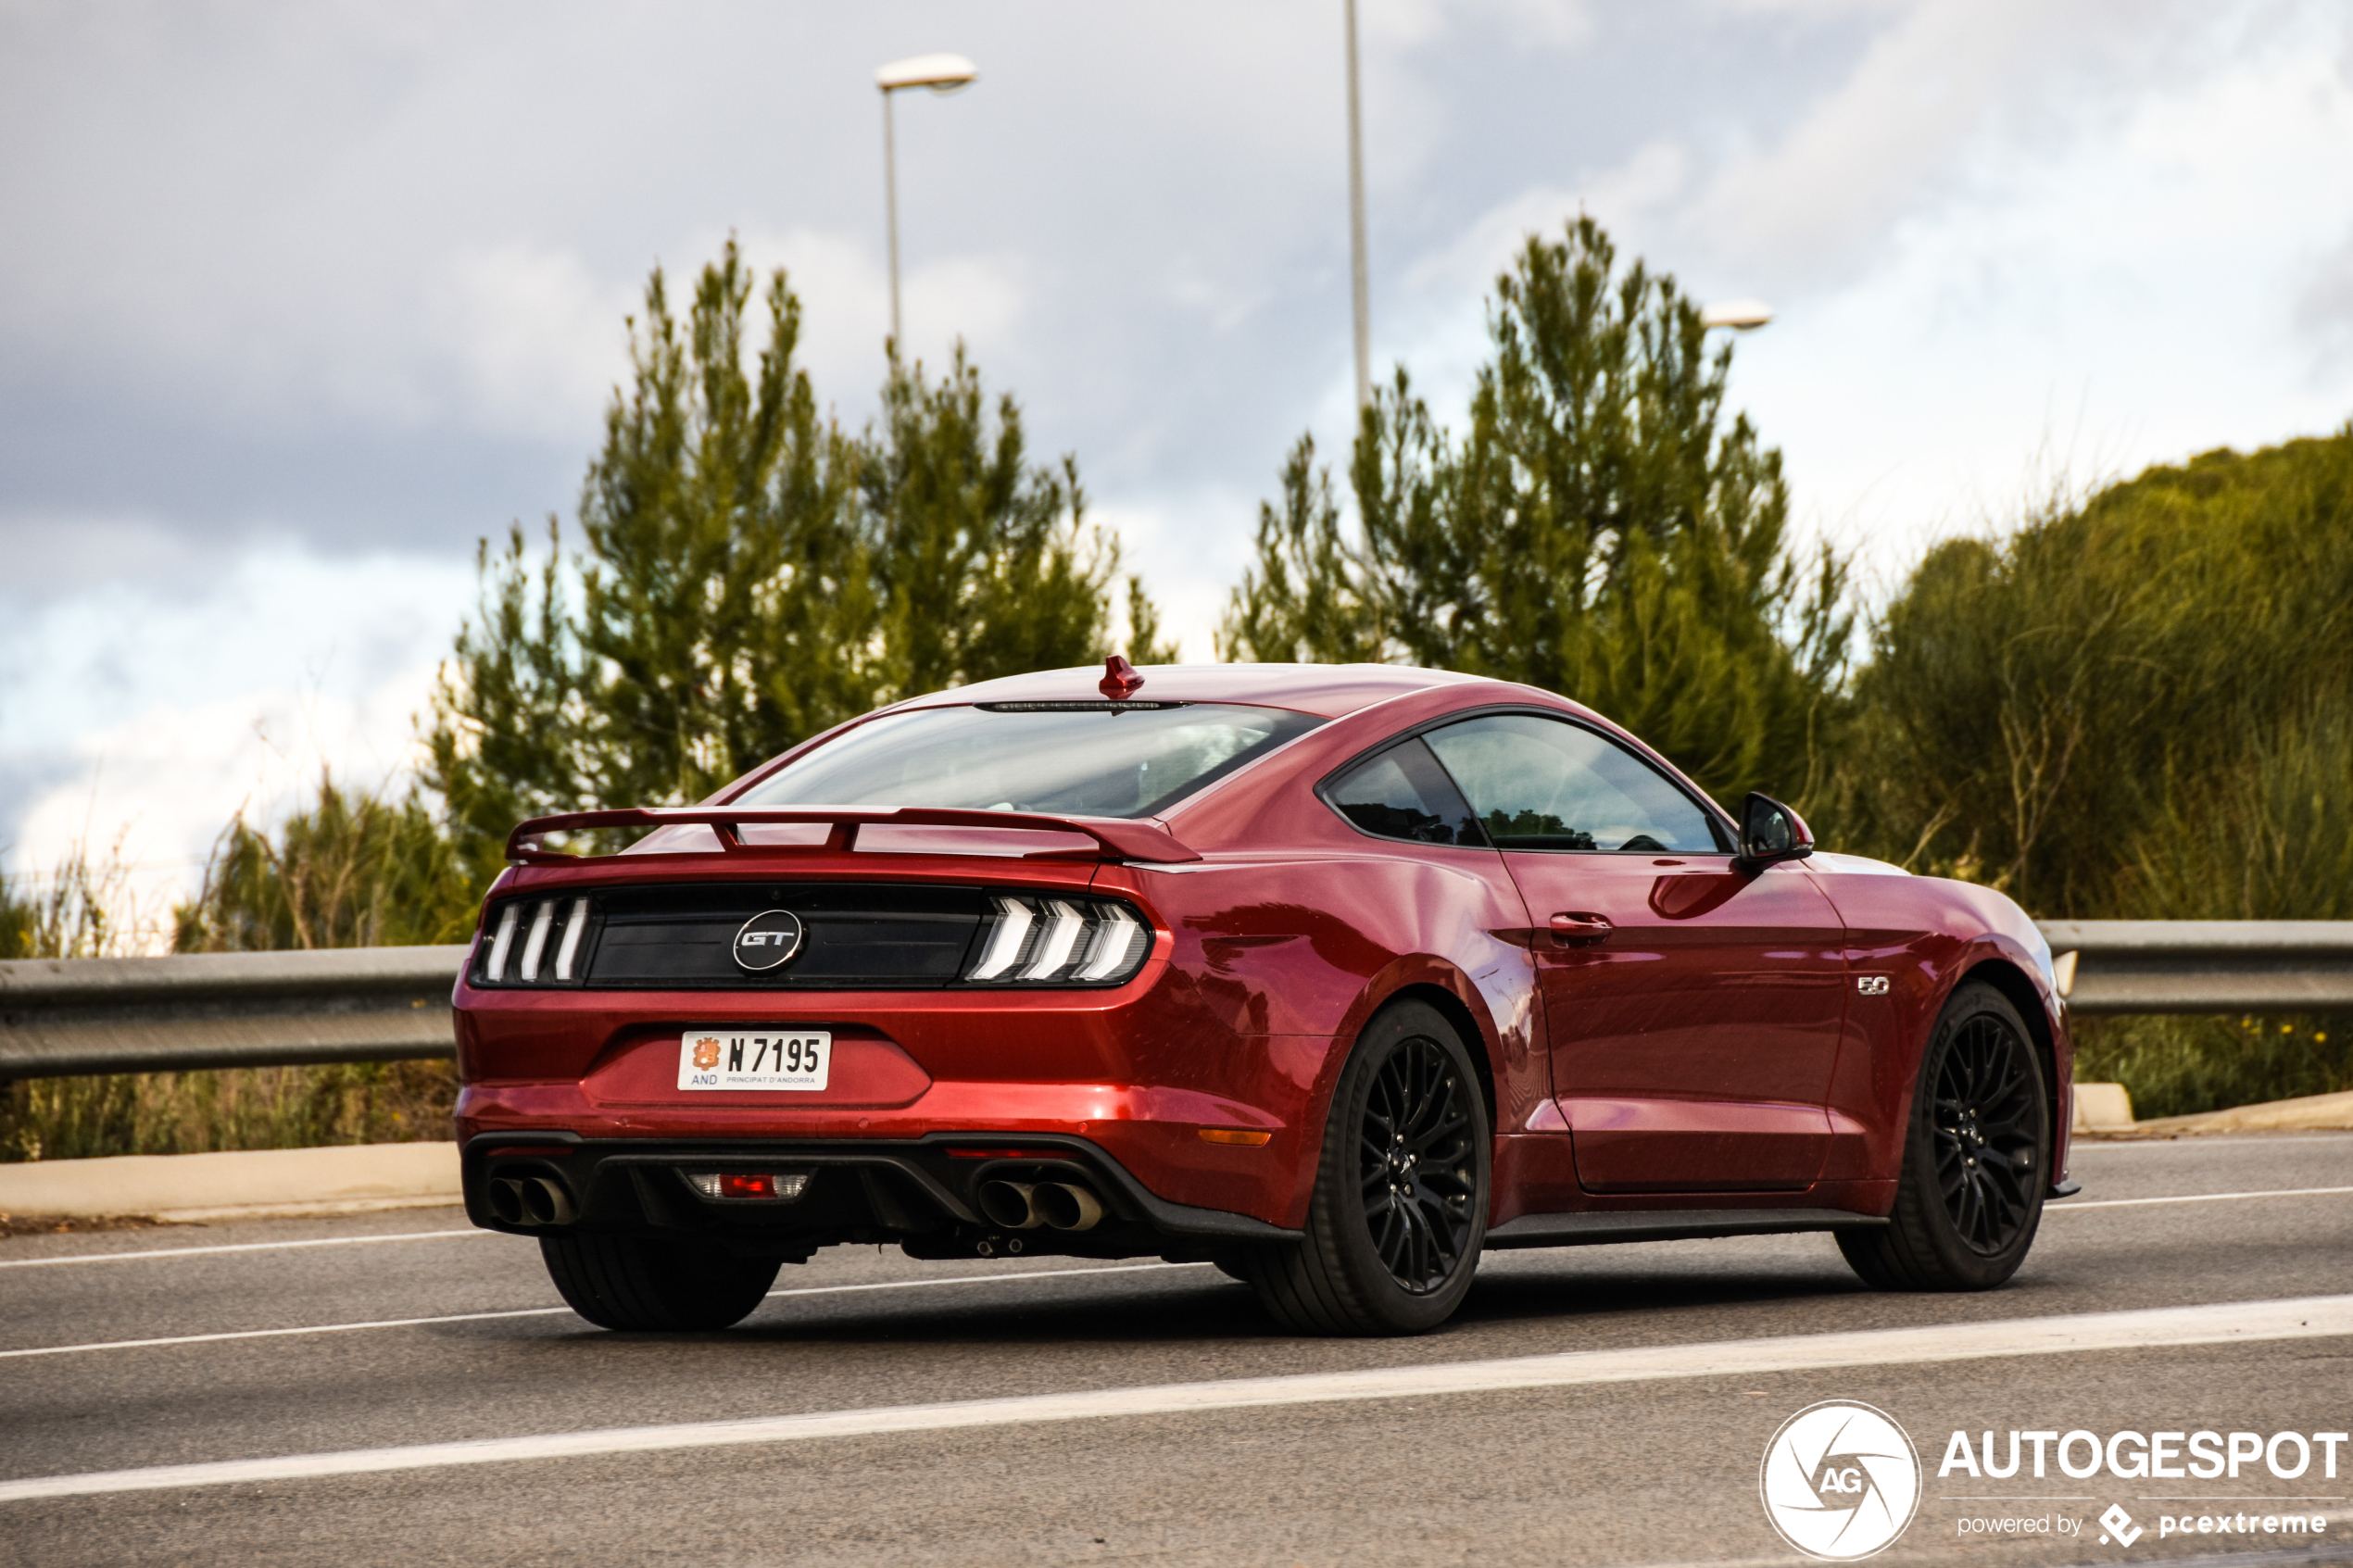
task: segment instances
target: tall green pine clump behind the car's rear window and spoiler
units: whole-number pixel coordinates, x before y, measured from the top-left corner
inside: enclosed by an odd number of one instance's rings
[[[544,555],[520,529],[482,545],[424,769],[475,879],[525,816],[692,802],[880,703],[1111,651],[1118,545],[962,348],[936,381],[894,357],[847,435],[798,343],[786,275],[758,289],[734,242],[682,322],[656,270],[579,548],[553,517]],[[1136,656],[1158,614],[1134,578],[1127,599]]]

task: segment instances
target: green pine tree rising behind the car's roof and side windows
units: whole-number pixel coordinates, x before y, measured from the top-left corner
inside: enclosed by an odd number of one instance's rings
[[[1788,541],[1781,454],[1725,418],[1732,348],[1591,219],[1497,282],[1452,437],[1405,369],[1365,409],[1355,529],[1301,440],[1228,658],[1409,661],[1572,696],[1727,797],[1802,797],[1838,708],[1845,569]]]

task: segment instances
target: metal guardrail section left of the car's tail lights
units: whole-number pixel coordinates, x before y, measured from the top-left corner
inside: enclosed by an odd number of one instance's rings
[[[0,1079],[454,1056],[466,947],[0,961]]]

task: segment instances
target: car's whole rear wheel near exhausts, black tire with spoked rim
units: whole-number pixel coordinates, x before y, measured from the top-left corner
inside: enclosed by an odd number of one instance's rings
[[[1332,1091],[1306,1237],[1233,1253],[1238,1272],[1294,1333],[1438,1328],[1478,1272],[1492,1152],[1454,1025],[1424,1001],[1388,1006]]]

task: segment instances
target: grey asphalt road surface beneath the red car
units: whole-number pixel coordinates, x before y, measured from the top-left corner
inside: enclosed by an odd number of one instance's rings
[[[2353,1138],[2104,1143],[2075,1175],[2082,1197],[1986,1295],[1864,1291],[1826,1237],[1492,1253],[1445,1331],[1372,1342],[1282,1338],[1209,1267],[833,1248],[729,1333],[612,1335],[555,1305],[529,1241],[456,1211],[19,1237],[0,1241],[0,1563],[1802,1561],[1767,1523],[1760,1458],[1826,1399],[1878,1406],[1922,1460],[1918,1512],[1875,1561],[2353,1563],[2353,1446],[2334,1479],[2318,1450],[2299,1479],[1939,1476],[1955,1429],[2353,1427],[2353,1302],[2318,1309],[2327,1333],[2242,1342],[2148,1347],[2111,1316],[2245,1302],[2221,1319],[2259,1328],[2280,1319],[2259,1302],[2353,1295]],[[2212,1338],[2214,1319],[2134,1324]],[[1849,1338],[1892,1328],[1937,1333]],[[2028,1328],[2111,1347],[2009,1354]],[[1798,1349],[1758,1349],[1784,1338]],[[1381,1368],[1485,1385],[1341,1396],[1367,1389],[1320,1378],[1231,1403],[1238,1380]],[[1202,1382],[1209,1408],[1132,1394]],[[1031,1396],[1054,1394],[1111,1413],[1038,1420]],[[906,1413],[984,1399],[1031,1403],[962,1427]],[[678,1436],[802,1413],[854,1415]],[[664,1432],[402,1453],[626,1427]],[[348,1474],[5,1486],[353,1450],[388,1453],[322,1465]],[[2146,1530],[2132,1547],[2101,1540],[2111,1502]],[[2257,1526],[2160,1535],[2160,1516],[2233,1509]],[[2327,1528],[2264,1533],[2261,1509]],[[2047,1530],[1965,1533],[2002,1519]]]

